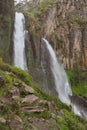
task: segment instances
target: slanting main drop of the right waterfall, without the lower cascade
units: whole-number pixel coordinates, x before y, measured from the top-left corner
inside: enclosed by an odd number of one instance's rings
[[[58,92],[59,99],[69,105],[71,104],[69,95],[72,95],[72,91],[68,83],[66,73],[63,66],[59,63],[59,61],[57,61],[55,52],[51,45],[46,39],[43,38],[42,40],[50,54],[50,67],[54,76],[56,91]]]

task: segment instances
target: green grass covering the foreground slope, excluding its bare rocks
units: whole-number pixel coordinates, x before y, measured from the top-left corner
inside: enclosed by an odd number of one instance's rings
[[[7,72],[15,74],[15,76],[9,75]],[[46,101],[53,101],[55,104],[55,121],[56,121],[56,128],[60,130],[86,130],[87,128],[87,121],[84,119],[81,119],[80,117],[74,115],[71,112],[71,108],[66,106],[65,104],[61,103],[57,98],[54,98],[44,92],[42,92],[38,86],[33,82],[32,77],[26,73],[23,70],[20,70],[18,68],[9,66],[5,63],[0,63],[0,75],[3,75],[5,82],[2,85],[3,87],[0,87],[0,96],[4,96],[4,92],[8,92],[8,89],[11,89],[13,84],[18,81],[25,82],[27,85],[31,86],[35,90],[35,95],[38,96],[40,99],[45,99]],[[23,93],[23,90],[22,90]],[[26,95],[26,94],[25,94]],[[4,104],[4,108],[0,109],[0,116],[4,116],[5,119],[10,120],[12,113],[17,114],[24,122],[24,129],[28,130],[27,125],[29,124],[27,120],[28,118],[37,117],[38,119],[44,118],[45,121],[48,121],[50,124],[50,118],[51,112],[47,109],[45,112],[42,112],[40,114],[37,113],[27,113],[27,116],[25,113],[22,113],[19,109],[20,107],[25,104],[19,103],[19,101],[12,102],[13,106]],[[31,104],[26,104],[27,106]],[[35,105],[35,104],[34,104]],[[46,107],[46,106],[44,106]],[[34,124],[33,124],[34,125]],[[8,124],[3,125],[0,123],[0,129],[2,130],[10,130],[10,126]],[[48,130],[55,130],[53,126],[48,127]],[[33,129],[32,129],[33,130]],[[41,130],[41,129],[40,129]]]

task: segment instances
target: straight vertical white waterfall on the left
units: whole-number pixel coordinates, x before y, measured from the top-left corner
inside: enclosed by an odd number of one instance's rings
[[[25,18],[22,13],[15,13],[14,28],[14,66],[27,70],[25,57]]]

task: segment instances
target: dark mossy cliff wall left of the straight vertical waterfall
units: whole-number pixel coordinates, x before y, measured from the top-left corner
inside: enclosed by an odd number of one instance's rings
[[[0,1],[0,59],[11,62],[14,1]]]

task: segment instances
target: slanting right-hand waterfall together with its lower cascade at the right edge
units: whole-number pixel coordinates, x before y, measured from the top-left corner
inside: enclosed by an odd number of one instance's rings
[[[60,64],[60,62],[57,60],[56,54],[51,45],[44,38],[42,38],[42,45],[45,46],[45,48],[49,52],[48,60],[50,62],[50,68],[54,77],[56,91],[58,93],[59,99],[63,103],[71,105],[72,111],[75,114],[87,119],[87,109],[84,108],[84,104],[80,104],[78,102],[80,98],[74,98],[74,96],[72,95],[72,90],[70,88],[65,70],[62,64]]]

